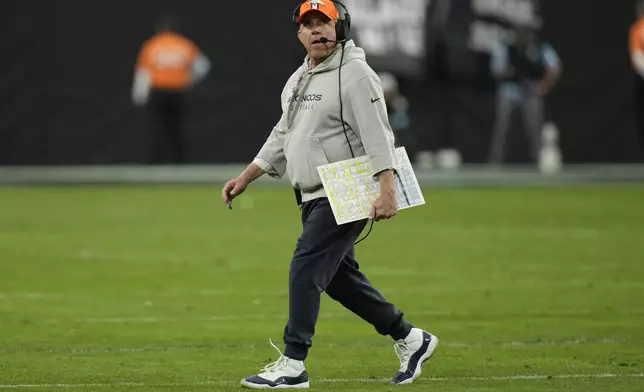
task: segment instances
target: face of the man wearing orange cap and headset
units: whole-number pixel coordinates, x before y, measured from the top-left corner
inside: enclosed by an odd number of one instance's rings
[[[328,57],[335,50],[335,42],[320,43],[320,38],[326,37],[335,41],[335,21],[317,11],[310,11],[302,18],[297,37],[311,58],[321,59]]]

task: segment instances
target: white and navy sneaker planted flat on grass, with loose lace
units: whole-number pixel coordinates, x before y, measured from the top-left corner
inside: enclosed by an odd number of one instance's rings
[[[308,388],[309,375],[304,362],[284,356],[272,341],[269,342],[280,353],[279,359],[266,365],[261,373],[243,379],[241,385],[251,389]]]

